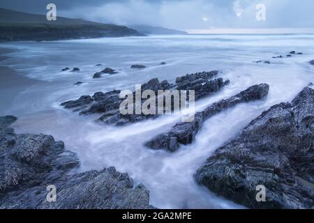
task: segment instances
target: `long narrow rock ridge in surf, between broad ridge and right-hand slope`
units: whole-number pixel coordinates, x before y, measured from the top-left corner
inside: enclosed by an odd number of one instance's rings
[[[268,94],[268,91],[268,84],[251,86],[250,88],[232,96],[231,98],[215,102],[214,104],[204,109],[202,112],[197,112],[193,121],[177,123],[169,132],[158,134],[158,136],[147,141],[145,145],[153,149],[167,149],[169,151],[176,151],[179,148],[179,144],[186,145],[193,142],[195,135],[202,127],[202,123],[204,123],[204,121],[206,121],[208,118],[211,118],[212,116],[226,109],[234,107],[241,102],[261,100]]]

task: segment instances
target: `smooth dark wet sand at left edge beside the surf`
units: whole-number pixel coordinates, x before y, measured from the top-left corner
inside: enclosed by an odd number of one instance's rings
[[[9,56],[6,54],[9,52],[12,51],[8,48],[0,48],[0,61],[8,59]],[[37,80],[18,75],[9,67],[0,66],[0,116],[8,115],[6,111],[12,105],[15,97],[36,83],[38,83]]]

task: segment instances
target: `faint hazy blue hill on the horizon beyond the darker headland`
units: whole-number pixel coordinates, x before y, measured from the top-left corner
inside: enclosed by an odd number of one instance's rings
[[[145,26],[145,25],[130,25],[132,29],[136,29],[140,33],[147,35],[186,35],[185,31],[179,31],[175,29],[167,29],[159,26]]]

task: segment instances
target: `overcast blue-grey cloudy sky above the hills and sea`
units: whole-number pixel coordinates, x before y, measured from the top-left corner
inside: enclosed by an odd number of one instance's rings
[[[173,29],[314,28],[313,0],[1,0],[0,7],[114,24],[149,24]],[[257,21],[257,3],[266,21]]]

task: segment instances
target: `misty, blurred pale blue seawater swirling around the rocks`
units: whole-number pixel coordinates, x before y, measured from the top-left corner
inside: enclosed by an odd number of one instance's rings
[[[63,140],[66,149],[80,158],[79,171],[114,166],[127,172],[135,184],[144,183],[150,190],[151,204],[158,208],[243,208],[197,185],[193,174],[216,148],[262,111],[292,100],[314,82],[314,66],[308,63],[314,59],[314,36],[310,34],[99,38],[2,43],[0,47],[17,49],[0,66],[10,66],[19,75],[40,80],[15,95],[10,107],[0,105],[1,115],[19,118],[13,125],[16,132],[52,134],[56,140]],[[292,50],[304,54],[272,59]],[[271,64],[255,63],[259,60]],[[162,61],[165,66],[160,66]],[[98,63],[103,66],[96,67]],[[134,63],[147,68],[130,69]],[[81,71],[61,72],[64,67]],[[95,72],[106,67],[119,73],[92,79]],[[180,116],[162,116],[115,128],[95,123],[99,115],[79,116],[59,106],[96,91],[133,90],[135,84],[154,77],[174,82],[180,75],[209,70],[220,70],[220,77],[230,79],[230,85],[197,101],[197,110],[253,84],[269,84],[269,95],[210,118],[194,143],[181,146],[176,153],[152,151],[143,144],[169,130]],[[78,81],[85,84],[74,86]]]

